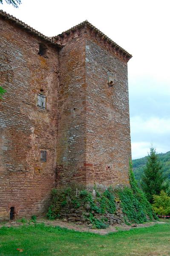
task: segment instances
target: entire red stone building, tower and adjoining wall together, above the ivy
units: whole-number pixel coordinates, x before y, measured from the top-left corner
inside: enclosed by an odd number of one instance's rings
[[[130,58],[87,21],[48,38],[0,11],[0,220],[43,214],[55,186],[129,183]]]

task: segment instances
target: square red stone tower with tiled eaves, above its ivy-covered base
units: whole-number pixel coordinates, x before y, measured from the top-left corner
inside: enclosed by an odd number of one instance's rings
[[[64,46],[59,52],[57,184],[127,185],[131,55],[88,21],[53,39]]]

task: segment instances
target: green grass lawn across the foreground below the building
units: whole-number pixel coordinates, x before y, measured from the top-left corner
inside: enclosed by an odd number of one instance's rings
[[[22,249],[20,252],[17,248]],[[118,231],[101,236],[44,224],[0,228],[0,256],[167,256],[170,224]]]

